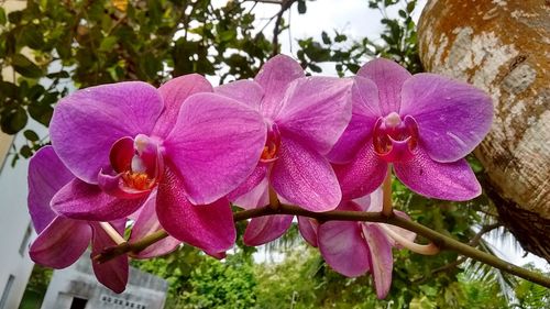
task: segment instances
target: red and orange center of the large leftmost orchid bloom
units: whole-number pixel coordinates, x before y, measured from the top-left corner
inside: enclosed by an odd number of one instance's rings
[[[158,144],[143,134],[117,141],[111,148],[110,159],[112,168],[121,174],[127,188],[150,190],[162,175],[163,162]]]

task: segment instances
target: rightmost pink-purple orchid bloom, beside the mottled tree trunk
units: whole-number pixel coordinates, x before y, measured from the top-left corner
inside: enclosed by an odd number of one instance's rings
[[[493,106],[475,87],[435,74],[411,76],[383,58],[354,80],[351,122],[328,157],[343,199],[381,186],[388,164],[411,190],[469,200],[481,186],[463,158],[487,134]]]

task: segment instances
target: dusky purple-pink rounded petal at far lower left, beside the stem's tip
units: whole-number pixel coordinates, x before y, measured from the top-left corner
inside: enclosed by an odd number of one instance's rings
[[[91,240],[91,228],[86,221],[55,218],[42,230],[29,250],[31,260],[56,269],[75,263]]]

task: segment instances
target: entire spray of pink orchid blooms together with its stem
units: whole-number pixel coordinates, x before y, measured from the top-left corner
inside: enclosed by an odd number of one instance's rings
[[[129,258],[180,243],[223,258],[234,221],[252,219],[244,243],[260,245],[297,216],[327,264],[345,276],[370,273],[378,298],[391,288],[393,249],[457,250],[550,286],[393,209],[392,172],[429,198],[480,195],[464,156],[492,117],[490,97],[473,86],[382,58],[351,78],[306,76],[278,55],[253,80],[216,88],[186,75],[158,89],[81,89],[57,103],[52,145],[31,159],[31,257],[63,268],[91,243],[98,279],[121,293]],[[432,242],[417,244],[417,235]]]

